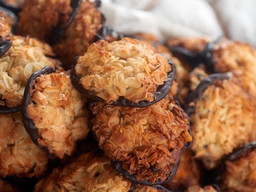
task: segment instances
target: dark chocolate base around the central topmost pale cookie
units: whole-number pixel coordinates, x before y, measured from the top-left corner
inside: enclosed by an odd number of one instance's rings
[[[72,65],[71,74],[70,74],[73,86],[82,95],[86,96],[87,98],[92,99],[96,102],[105,103],[105,101],[102,98],[95,96],[89,90],[84,89],[82,84],[79,82],[80,78],[78,76],[76,76],[76,70],[75,70],[76,61],[77,61],[77,58],[75,59],[75,62]],[[149,102],[149,101],[143,100],[143,101],[134,103],[134,102],[129,101],[128,99],[125,99],[123,96],[120,96],[119,99],[117,99],[115,102],[111,103],[110,105],[124,106],[124,107],[130,107],[130,108],[145,108],[145,107],[148,107],[150,105],[153,105],[153,104],[159,102],[161,99],[166,97],[166,95],[169,93],[169,91],[171,89],[172,82],[175,78],[175,74],[176,74],[175,65],[171,60],[169,60],[169,64],[171,65],[172,70],[169,73],[167,73],[167,81],[164,84],[157,87],[157,90],[154,93],[154,101]]]

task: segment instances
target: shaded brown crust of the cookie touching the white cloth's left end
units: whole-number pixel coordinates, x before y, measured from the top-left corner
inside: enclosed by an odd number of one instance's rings
[[[67,69],[71,68],[76,56],[87,51],[103,27],[104,17],[94,6],[89,0],[83,0],[75,19],[53,48]]]

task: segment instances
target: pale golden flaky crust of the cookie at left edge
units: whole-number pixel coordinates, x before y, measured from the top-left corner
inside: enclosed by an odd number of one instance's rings
[[[34,38],[11,36],[12,46],[0,58],[0,105],[17,107],[21,104],[29,76],[45,66],[59,65],[48,44]]]

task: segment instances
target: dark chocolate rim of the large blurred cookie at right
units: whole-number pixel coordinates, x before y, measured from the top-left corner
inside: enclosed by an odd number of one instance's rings
[[[207,76],[201,83],[196,87],[195,91],[189,93],[188,102],[186,106],[186,113],[191,116],[195,113],[196,105],[189,106],[190,102],[194,102],[196,104],[197,100],[202,96],[204,90],[209,87],[211,84],[215,84],[216,80],[223,81],[225,79],[230,79],[232,77],[232,73],[214,73],[212,75]]]

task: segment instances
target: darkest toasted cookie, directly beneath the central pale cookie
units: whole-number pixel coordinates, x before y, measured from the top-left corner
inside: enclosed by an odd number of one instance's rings
[[[189,118],[175,100],[165,98],[147,108],[98,102],[90,109],[92,131],[114,169],[147,185],[175,175],[181,152],[192,140]]]

